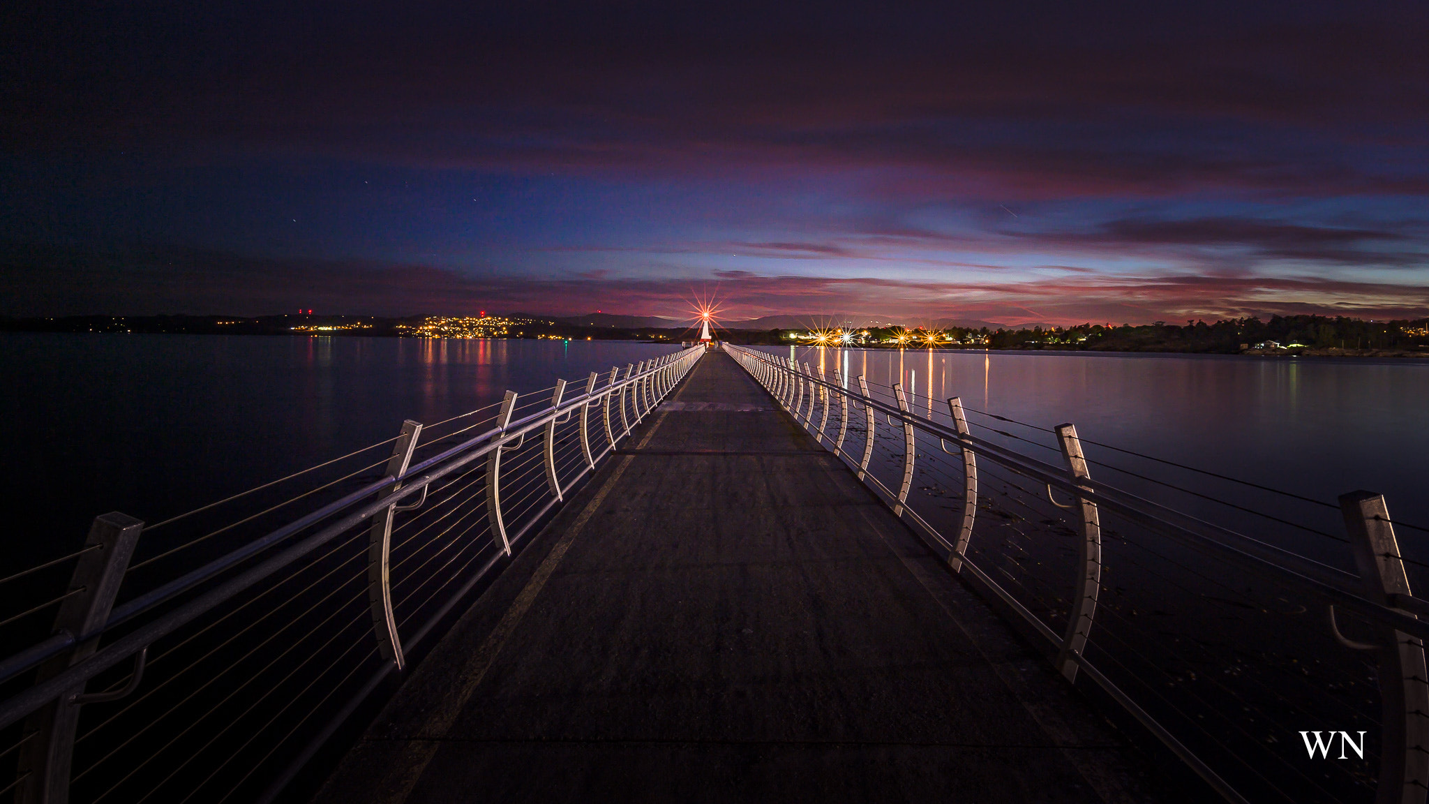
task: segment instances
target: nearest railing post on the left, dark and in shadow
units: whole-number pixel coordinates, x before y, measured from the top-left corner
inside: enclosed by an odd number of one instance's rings
[[[54,632],[67,631],[79,641],[69,652],[40,665],[36,684],[41,684],[84,661],[99,647],[99,637],[86,638],[103,628],[114,597],[129,568],[144,524],[120,512],[96,516],[90,525],[89,549],[79,558],[69,597],[54,617]],[[80,720],[80,684],[66,690],[59,698],[40,707],[24,721],[24,732],[33,732],[20,748],[16,767],[16,801],[20,804],[66,804],[70,798],[70,767],[74,760],[74,732]]]

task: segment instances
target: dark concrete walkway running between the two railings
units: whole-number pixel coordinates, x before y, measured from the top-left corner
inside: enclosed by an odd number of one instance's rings
[[[1140,755],[729,356],[622,448],[317,801],[1157,798]]]

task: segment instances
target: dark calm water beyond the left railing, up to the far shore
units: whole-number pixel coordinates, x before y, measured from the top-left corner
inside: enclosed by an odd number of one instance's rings
[[[54,555],[89,522],[189,511],[499,402],[677,346],[624,342],[0,336],[10,555]],[[576,392],[576,389],[572,389]],[[546,392],[549,398],[549,392]],[[19,558],[17,558],[19,561]],[[3,574],[3,572],[0,572]]]

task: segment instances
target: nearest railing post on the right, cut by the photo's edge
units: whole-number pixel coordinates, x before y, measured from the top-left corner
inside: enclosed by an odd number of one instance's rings
[[[1379,605],[1396,607],[1408,597],[1409,577],[1399,558],[1399,541],[1385,496],[1355,491],[1339,498],[1349,531],[1350,552],[1363,592]],[[1423,641],[1402,631],[1379,628],[1379,791],[1376,804],[1423,804],[1429,785],[1429,674]]]

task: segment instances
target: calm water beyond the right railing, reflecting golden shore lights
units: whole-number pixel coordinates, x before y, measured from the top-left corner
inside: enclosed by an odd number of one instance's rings
[[[787,348],[766,350],[790,353]],[[1083,439],[1326,502],[1355,489],[1382,492],[1390,516],[1429,525],[1429,362],[805,348],[797,349],[797,359],[822,365],[830,378],[835,368],[850,382],[865,375],[875,391],[902,382],[916,389],[915,406],[925,415],[945,418],[945,401],[960,396],[973,411],[1042,428],[1073,422]],[[969,421],[1055,443],[1047,433],[987,416],[969,415]],[[975,426],[973,432],[989,436],[990,431]],[[1060,465],[1053,451],[989,438]],[[1087,454],[1198,492],[1275,505],[1275,512],[1328,532],[1343,531],[1338,511],[1236,489],[1107,449],[1087,446]],[[1167,498],[1165,486],[1105,466],[1093,468],[1093,476],[1253,535],[1265,536],[1263,528],[1273,525],[1236,515],[1228,519],[1223,506]],[[1429,534],[1402,528],[1398,535],[1410,555],[1429,559]],[[1288,546],[1332,558],[1315,539]]]

